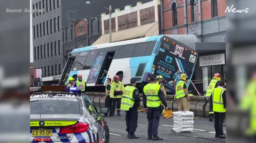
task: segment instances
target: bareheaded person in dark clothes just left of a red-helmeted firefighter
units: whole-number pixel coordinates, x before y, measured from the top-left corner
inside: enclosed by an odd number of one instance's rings
[[[112,105],[112,99],[114,97],[114,93],[112,93],[110,95],[110,90],[111,90],[111,78],[107,78],[107,85],[106,85],[106,88],[105,88],[105,97],[104,97],[104,100],[105,100],[105,107],[108,107],[109,108],[109,117],[112,117],[112,112],[113,112],[113,105]],[[105,114],[105,117],[107,117],[108,114]]]

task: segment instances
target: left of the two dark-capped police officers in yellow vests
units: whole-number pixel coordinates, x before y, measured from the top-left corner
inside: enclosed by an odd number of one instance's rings
[[[138,139],[134,133],[137,128],[138,121],[138,107],[140,106],[139,91],[135,87],[136,78],[131,78],[131,84],[127,85],[123,90],[121,99],[121,110],[126,111],[126,131],[128,132],[127,138]]]

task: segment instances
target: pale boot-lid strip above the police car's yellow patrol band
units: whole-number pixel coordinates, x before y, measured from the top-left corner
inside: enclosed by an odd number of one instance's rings
[[[30,115],[30,121],[78,121],[81,114],[34,114]]]

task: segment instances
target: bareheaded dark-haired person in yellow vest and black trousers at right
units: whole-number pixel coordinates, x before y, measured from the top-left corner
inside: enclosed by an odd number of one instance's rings
[[[215,115],[215,138],[226,138],[223,134],[223,121],[226,113],[226,90],[224,89],[226,83],[224,80],[219,81],[219,86],[213,89],[210,96],[213,102],[213,112]]]

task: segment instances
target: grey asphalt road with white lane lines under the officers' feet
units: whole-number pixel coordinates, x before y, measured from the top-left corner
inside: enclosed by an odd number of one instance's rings
[[[158,136],[163,138],[163,141],[148,140],[148,120],[146,113],[138,113],[138,127],[135,132],[139,139],[127,138],[126,124],[125,124],[125,112],[121,112],[121,116],[113,116],[105,118],[110,130],[110,143],[215,143],[226,142],[226,139],[215,138],[214,120],[209,122],[208,118],[195,117],[194,131],[176,133],[172,131],[174,124],[173,118],[160,119],[160,125],[158,127]],[[224,122],[225,123],[225,122]],[[224,134],[226,127],[223,127]]]

